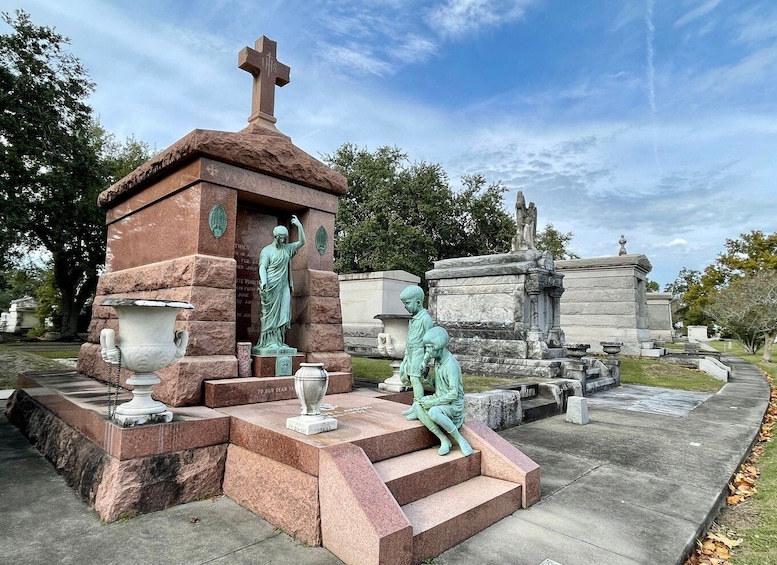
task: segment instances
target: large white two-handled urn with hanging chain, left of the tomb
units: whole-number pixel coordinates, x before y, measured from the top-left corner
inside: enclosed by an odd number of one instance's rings
[[[181,310],[194,306],[188,302],[130,298],[109,298],[101,305],[111,306],[119,318],[118,344],[112,329],[100,332],[102,358],[134,373],[127,379],[127,384],[134,387],[132,400],[116,407],[114,421],[124,427],[170,422],[173,413],[151,397],[153,386],[161,382],[154,371],[172,365],[186,353],[189,334],[175,330],[175,319]]]

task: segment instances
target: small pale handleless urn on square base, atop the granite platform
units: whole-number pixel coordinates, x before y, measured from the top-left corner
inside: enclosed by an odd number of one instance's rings
[[[321,401],[329,386],[323,363],[300,363],[294,374],[294,391],[302,404],[300,415],[286,420],[286,427],[305,435],[337,429],[337,420],[321,414]]]

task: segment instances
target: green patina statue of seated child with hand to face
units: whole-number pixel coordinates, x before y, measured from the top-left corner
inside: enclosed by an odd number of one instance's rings
[[[434,394],[414,400],[412,409],[421,423],[440,439],[440,455],[446,455],[451,449],[447,434],[459,444],[464,455],[470,455],[472,446],[459,433],[464,423],[464,386],[459,362],[446,347],[449,339],[448,332],[440,326],[424,334],[424,366],[434,359],[434,375],[425,375],[425,378],[434,386]]]

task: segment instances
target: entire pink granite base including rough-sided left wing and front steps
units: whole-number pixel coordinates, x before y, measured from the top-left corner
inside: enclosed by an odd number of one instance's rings
[[[310,436],[286,428],[296,399],[174,408],[172,422],[135,428],[110,422],[106,406],[103,383],[57,372],[20,377],[6,409],[106,521],[223,492],[347,564],[409,565],[540,499],[537,464],[485,424],[461,428],[471,456],[439,456],[436,438],[377,391],[325,397],[338,427]]]

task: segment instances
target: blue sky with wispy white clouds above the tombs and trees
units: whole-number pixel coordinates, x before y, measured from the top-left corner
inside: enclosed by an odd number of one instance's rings
[[[71,38],[103,125],[158,150],[237,131],[237,53],[278,42],[278,128],[482,173],[662,288],[726,238],[777,231],[777,3],[736,0],[0,0]],[[4,28],[3,32],[7,30]]]

